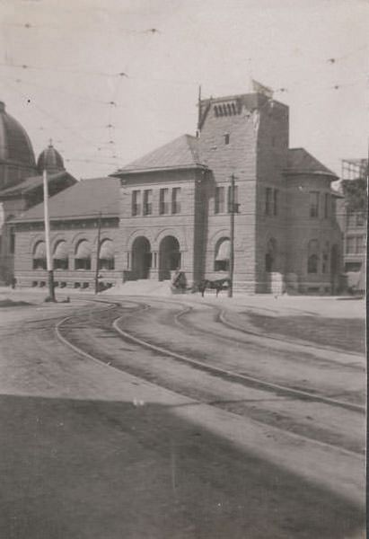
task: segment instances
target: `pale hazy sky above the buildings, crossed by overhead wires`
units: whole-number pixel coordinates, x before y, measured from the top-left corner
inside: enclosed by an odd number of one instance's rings
[[[368,155],[367,0],[0,0],[0,101],[36,155],[104,176],[250,78],[290,107],[290,147],[340,173]]]

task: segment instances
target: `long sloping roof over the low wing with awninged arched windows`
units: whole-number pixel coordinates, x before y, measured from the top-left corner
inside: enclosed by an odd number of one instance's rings
[[[48,201],[51,220],[119,216],[118,178],[93,178],[82,180],[62,190]],[[43,219],[43,203],[33,206],[14,222],[40,221]]]

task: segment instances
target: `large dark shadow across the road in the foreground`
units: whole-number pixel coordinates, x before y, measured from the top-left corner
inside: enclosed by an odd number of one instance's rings
[[[348,539],[339,496],[171,407],[2,395],[6,539]]]

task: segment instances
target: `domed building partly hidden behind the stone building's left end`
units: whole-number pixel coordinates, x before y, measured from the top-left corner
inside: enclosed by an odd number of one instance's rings
[[[43,199],[42,172],[48,172],[49,196],[73,185],[63,158],[50,144],[36,164],[31,139],[0,102],[0,282],[13,278],[15,236],[12,219]]]

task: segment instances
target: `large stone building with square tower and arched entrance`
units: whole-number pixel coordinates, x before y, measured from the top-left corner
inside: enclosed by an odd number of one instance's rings
[[[92,285],[99,211],[102,221],[111,219],[103,238],[110,241],[110,270],[99,261],[107,282],[165,280],[180,270],[190,286],[228,275],[233,175],[234,290],[336,292],[341,250],[330,183],[337,176],[303,148],[289,149],[288,107],[248,93],[202,100],[198,112],[198,137],[176,138],[110,179],[83,181],[83,188],[75,185],[50,201],[53,252],[64,242],[67,258],[57,282]],[[92,183],[105,192],[103,204]],[[14,221],[21,284],[46,282],[37,262],[44,257],[41,220],[40,205]],[[89,262],[78,262],[81,244]]]

